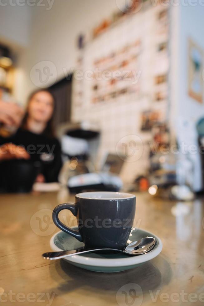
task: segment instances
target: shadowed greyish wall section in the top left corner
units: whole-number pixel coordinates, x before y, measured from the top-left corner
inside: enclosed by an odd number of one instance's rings
[[[17,0],[1,1],[0,6],[0,42],[10,48],[16,69],[16,83],[13,94],[19,103],[23,103],[24,82],[27,79],[26,54],[30,43],[32,15],[34,8]],[[3,5],[2,5],[3,4]]]

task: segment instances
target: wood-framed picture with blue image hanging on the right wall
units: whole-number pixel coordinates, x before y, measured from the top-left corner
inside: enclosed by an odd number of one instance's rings
[[[188,95],[203,103],[203,49],[192,38],[188,38]]]

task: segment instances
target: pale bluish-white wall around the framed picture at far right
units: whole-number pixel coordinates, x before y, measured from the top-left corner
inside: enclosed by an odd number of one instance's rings
[[[199,103],[188,95],[188,38],[192,38],[204,50],[203,20],[204,6],[199,1],[193,2],[193,6],[179,6],[178,105],[174,122],[177,141],[180,145],[182,142],[187,144],[188,150],[191,150],[191,145],[198,147],[196,123],[204,116],[204,103]],[[197,150],[196,153],[190,153],[189,158],[194,166],[193,188],[199,191],[203,184],[201,155]]]

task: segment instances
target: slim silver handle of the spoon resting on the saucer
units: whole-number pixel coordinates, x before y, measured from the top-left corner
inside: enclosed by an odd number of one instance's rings
[[[120,250],[118,249],[101,249],[101,248],[100,249],[77,249],[77,250],[71,250],[71,251],[47,252],[47,253],[42,254],[42,257],[44,259],[53,260],[53,259],[61,259],[67,256],[75,255],[75,254],[83,254],[83,253],[88,253],[88,252],[106,251],[106,250],[120,252]]]

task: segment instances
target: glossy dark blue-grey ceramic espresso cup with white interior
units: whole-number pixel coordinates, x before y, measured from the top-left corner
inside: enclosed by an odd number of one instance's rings
[[[77,217],[78,230],[64,225],[58,218],[68,209]],[[75,196],[75,204],[58,205],[53,221],[86,247],[124,249],[133,227],[136,197],[123,192],[84,192]]]

